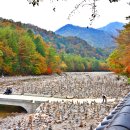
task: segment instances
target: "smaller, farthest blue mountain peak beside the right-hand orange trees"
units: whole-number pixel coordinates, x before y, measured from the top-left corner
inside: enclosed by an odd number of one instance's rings
[[[119,35],[119,31],[124,29],[124,23],[121,22],[112,22],[108,25],[98,28],[99,30],[105,31],[109,33],[110,35],[117,37]]]

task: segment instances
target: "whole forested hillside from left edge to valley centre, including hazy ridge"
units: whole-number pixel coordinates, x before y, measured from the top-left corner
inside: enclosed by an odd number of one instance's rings
[[[77,37],[64,38],[53,32],[48,35],[48,31],[38,31],[34,26],[35,31],[34,27],[27,26],[0,19],[0,75],[108,69],[105,62],[108,53],[102,49],[93,48]],[[46,34],[46,41],[43,34]]]

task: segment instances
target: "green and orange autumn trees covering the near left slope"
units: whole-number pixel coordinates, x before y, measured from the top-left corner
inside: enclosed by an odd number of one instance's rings
[[[20,23],[0,21],[0,74],[52,74],[60,64],[60,56],[40,35]]]

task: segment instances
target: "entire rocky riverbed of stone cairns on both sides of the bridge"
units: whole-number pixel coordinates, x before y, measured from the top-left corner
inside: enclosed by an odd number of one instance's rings
[[[102,94],[120,99],[130,90],[126,77],[108,72],[0,78],[0,92],[7,87],[13,94],[77,99]],[[117,104],[118,100],[107,104],[46,101],[35,113],[0,119],[0,130],[93,130]]]

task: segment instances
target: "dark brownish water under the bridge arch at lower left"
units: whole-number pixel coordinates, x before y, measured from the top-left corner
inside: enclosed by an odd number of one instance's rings
[[[14,116],[18,113],[27,113],[27,111],[20,106],[0,105],[0,118]]]

